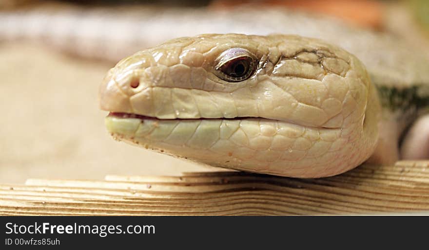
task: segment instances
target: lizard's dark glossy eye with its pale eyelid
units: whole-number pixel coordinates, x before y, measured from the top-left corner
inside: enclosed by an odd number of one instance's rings
[[[255,71],[256,57],[248,50],[229,49],[216,59],[215,75],[227,82],[241,82],[248,79]]]

